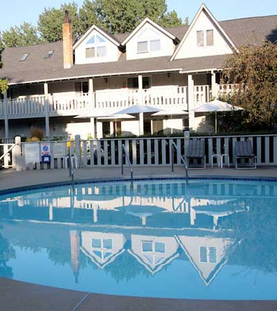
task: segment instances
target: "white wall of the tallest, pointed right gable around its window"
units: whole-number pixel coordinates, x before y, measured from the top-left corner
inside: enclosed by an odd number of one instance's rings
[[[213,29],[213,46],[197,46],[197,31]],[[226,41],[220,30],[215,26],[215,23],[208,17],[206,12],[202,11],[194,26],[190,29],[186,41],[182,44],[175,59],[188,57],[202,57],[209,55],[224,55],[231,54],[232,50],[229,43]]]

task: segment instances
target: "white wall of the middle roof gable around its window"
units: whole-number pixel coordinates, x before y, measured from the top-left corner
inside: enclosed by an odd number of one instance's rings
[[[161,50],[148,53],[137,53],[137,42],[146,41],[148,39],[161,39]],[[127,42],[126,59],[142,59],[172,55],[174,50],[175,44],[173,44],[172,39],[157,30],[157,28],[154,28],[150,23],[145,23],[145,26],[143,26],[143,28],[141,28],[141,30],[139,30],[139,32]]]

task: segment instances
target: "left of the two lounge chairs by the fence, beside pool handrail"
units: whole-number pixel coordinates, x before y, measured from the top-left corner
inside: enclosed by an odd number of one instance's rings
[[[190,140],[188,144],[188,156],[186,156],[186,159],[189,168],[206,169],[204,140]]]

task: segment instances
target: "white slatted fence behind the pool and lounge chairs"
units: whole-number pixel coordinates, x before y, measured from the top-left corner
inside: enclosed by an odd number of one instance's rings
[[[258,166],[277,165],[277,135],[207,136],[190,138],[190,140],[205,141],[206,165],[209,167],[211,167],[212,161],[216,164],[216,159],[212,157],[216,153],[228,154],[230,164],[234,166],[235,142],[241,140],[252,142]],[[87,141],[80,140],[80,136],[76,135],[75,141],[71,144],[71,153],[75,155],[75,160],[79,167],[118,167],[119,169],[122,161],[122,145],[124,144],[129,152],[129,160],[134,167],[170,166],[172,163],[172,153],[170,152],[172,142],[175,142],[181,155],[186,157],[185,140],[182,137],[117,138]],[[28,162],[24,153],[24,144],[37,144],[37,150],[39,150],[38,159],[41,159],[41,145],[43,143],[21,143],[21,169],[61,169],[67,167],[68,151],[66,149],[66,141],[49,142],[51,163],[42,164],[40,160]],[[177,153],[173,157],[174,164],[181,166],[181,160],[177,157]],[[224,165],[226,164],[226,158],[224,158]]]

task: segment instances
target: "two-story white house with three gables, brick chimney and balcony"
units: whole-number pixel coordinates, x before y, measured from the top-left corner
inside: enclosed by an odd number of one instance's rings
[[[139,134],[137,115],[111,115],[134,104],[188,112],[145,113],[144,133],[202,130],[195,106],[232,88],[220,86],[224,59],[242,45],[276,40],[277,15],[217,21],[203,4],[190,26],[162,28],[146,18],[118,35],[91,26],[75,43],[68,13],[62,28],[63,41],[4,50],[0,78],[9,89],[0,100],[1,137],[29,135],[32,126],[46,136]]]

